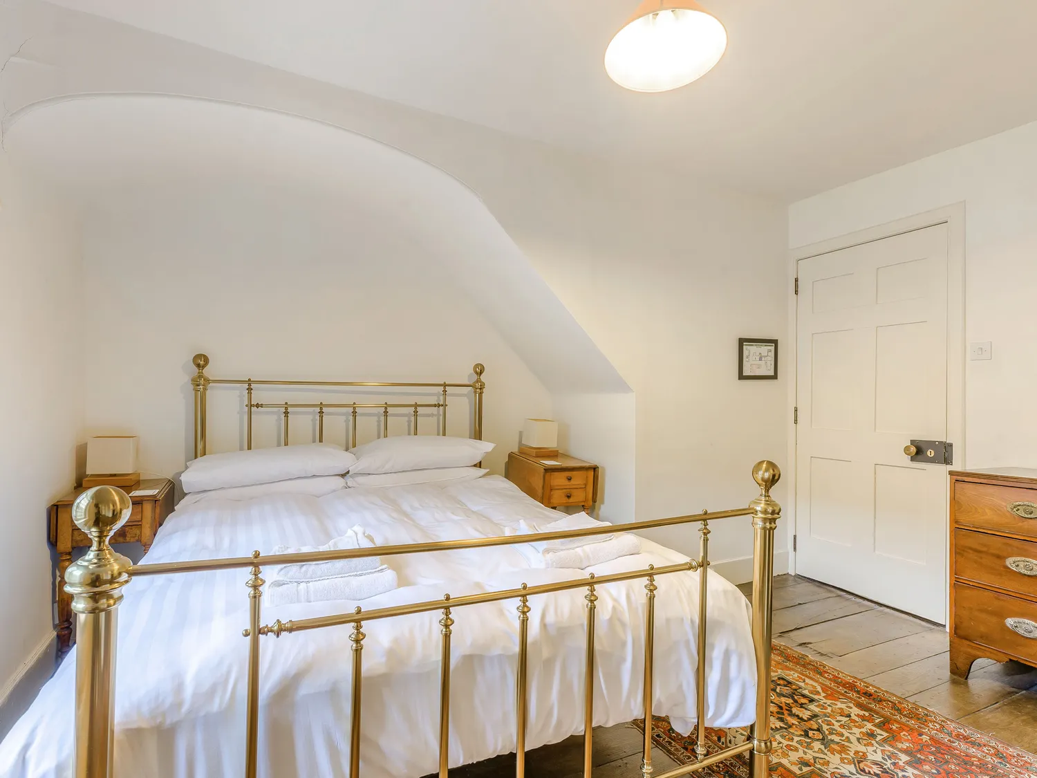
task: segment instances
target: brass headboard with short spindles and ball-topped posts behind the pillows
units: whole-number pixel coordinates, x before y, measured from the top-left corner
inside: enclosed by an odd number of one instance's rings
[[[246,448],[252,448],[252,411],[253,409],[277,408],[283,409],[284,433],[282,441],[284,445],[288,443],[288,414],[292,409],[309,409],[317,412],[317,440],[324,442],[324,416],[326,409],[352,409],[352,446],[357,445],[357,413],[364,409],[382,409],[382,435],[389,435],[389,411],[390,409],[409,409],[412,411],[413,426],[412,434],[418,434],[418,413],[423,409],[439,409],[440,411],[440,435],[447,434],[447,390],[448,389],[471,389],[473,402],[473,424],[472,437],[482,440],[482,392],[486,388],[482,380],[485,368],[482,364],[476,363],[472,367],[475,373],[475,381],[470,383],[444,382],[383,382],[383,381],[270,381],[257,379],[211,379],[205,374],[208,366],[208,357],[204,354],[196,354],[191,362],[198,369],[198,372],[191,377],[191,386],[194,388],[195,399],[195,459],[205,454],[205,397],[211,384],[231,384],[245,387],[246,407]],[[253,402],[252,394],[257,386],[282,386],[289,388],[299,387],[387,387],[396,389],[437,389],[442,394],[442,398],[437,402]]]

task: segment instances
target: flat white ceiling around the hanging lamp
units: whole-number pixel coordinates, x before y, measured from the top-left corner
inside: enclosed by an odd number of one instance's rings
[[[682,89],[613,84],[637,0],[56,0],[570,150],[794,200],[1037,119],[1032,0],[707,0],[730,45]]]

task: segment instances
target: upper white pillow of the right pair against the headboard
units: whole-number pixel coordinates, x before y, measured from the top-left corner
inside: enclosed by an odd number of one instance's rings
[[[352,449],[357,464],[351,473],[401,473],[404,470],[463,468],[482,460],[493,443],[439,435],[400,435],[381,438]]]

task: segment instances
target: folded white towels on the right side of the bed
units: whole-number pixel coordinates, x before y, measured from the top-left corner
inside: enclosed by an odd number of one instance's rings
[[[567,529],[608,526],[587,513],[573,513],[564,519],[543,524],[542,522],[518,522],[516,527],[508,527],[505,534],[532,534],[534,532],[558,532]],[[610,532],[587,537],[570,537],[563,540],[530,543],[515,546],[533,567],[574,567],[583,569],[594,564],[608,562],[621,556],[641,553],[641,541],[637,535],[627,532]]]

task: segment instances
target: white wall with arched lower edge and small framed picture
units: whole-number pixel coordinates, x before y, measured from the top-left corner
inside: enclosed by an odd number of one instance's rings
[[[587,422],[597,441],[581,449],[587,459],[622,461],[607,448],[634,436],[634,455],[619,466],[626,474],[607,475],[607,501],[633,504],[638,518],[729,507],[753,497],[756,460],[786,464],[788,369],[775,383],[735,380],[737,337],[786,330],[784,204],[562,152],[54,6],[36,10],[25,51],[48,67],[8,67],[11,109],[88,91],[235,101],[376,138],[471,187],[637,393],[633,433],[625,421],[626,429],[606,429],[608,415]],[[504,434],[513,440],[516,430]],[[617,499],[624,482],[636,482],[636,494]],[[750,553],[748,523],[716,529],[717,558]],[[668,539],[691,551],[686,538]]]

